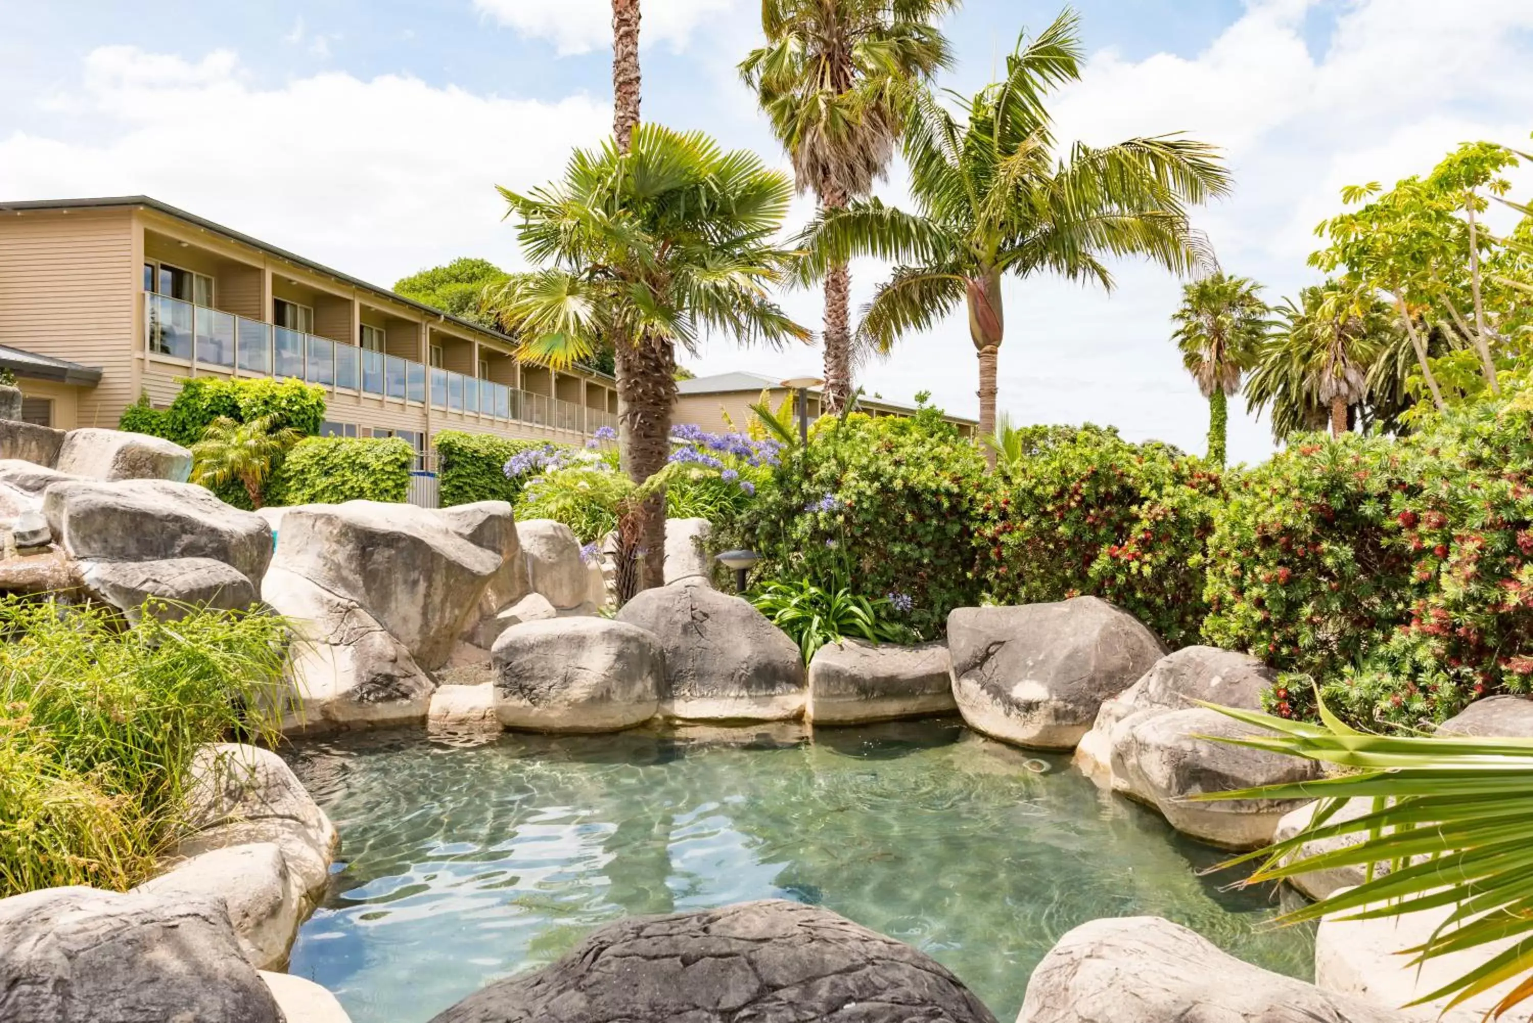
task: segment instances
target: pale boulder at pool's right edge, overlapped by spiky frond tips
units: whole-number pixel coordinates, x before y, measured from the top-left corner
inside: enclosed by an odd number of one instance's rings
[[[1272,840],[1277,822],[1303,799],[1202,802],[1193,796],[1312,781],[1321,770],[1298,756],[1214,741],[1252,735],[1263,732],[1203,707],[1154,715],[1128,732],[1114,750],[1113,770],[1125,779],[1127,796],[1159,810],[1177,831],[1223,848],[1257,848]]]

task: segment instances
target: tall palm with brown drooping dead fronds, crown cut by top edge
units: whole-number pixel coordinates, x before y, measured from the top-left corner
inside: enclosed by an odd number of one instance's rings
[[[762,0],[766,44],[740,63],[773,132],[793,158],[799,195],[823,209],[868,195],[886,175],[900,135],[900,101],[912,80],[947,67],[947,40],[932,25],[961,0]],[[852,391],[851,273],[825,275],[825,408]]]

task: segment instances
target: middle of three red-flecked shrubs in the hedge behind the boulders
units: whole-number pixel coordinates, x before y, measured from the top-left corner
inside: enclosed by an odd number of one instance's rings
[[[1016,604],[1090,594],[1173,647],[1196,643],[1219,469],[1091,425],[1019,429],[1012,452],[978,515],[990,595]]]

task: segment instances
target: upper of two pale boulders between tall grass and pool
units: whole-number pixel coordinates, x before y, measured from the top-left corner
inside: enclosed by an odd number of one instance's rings
[[[281,756],[254,745],[205,745],[192,761],[190,781],[190,834],[181,840],[179,856],[271,842],[282,850],[304,897],[319,902],[340,837]]]

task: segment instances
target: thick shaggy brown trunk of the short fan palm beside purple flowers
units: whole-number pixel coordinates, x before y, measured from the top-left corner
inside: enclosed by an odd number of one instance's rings
[[[668,340],[641,336],[618,345],[619,449],[622,471],[641,483],[670,457],[671,410],[676,403],[676,353]],[[665,494],[655,494],[619,525],[618,601],[639,589],[665,584]],[[638,558],[638,569],[633,563]],[[629,589],[624,587],[629,580]]]

